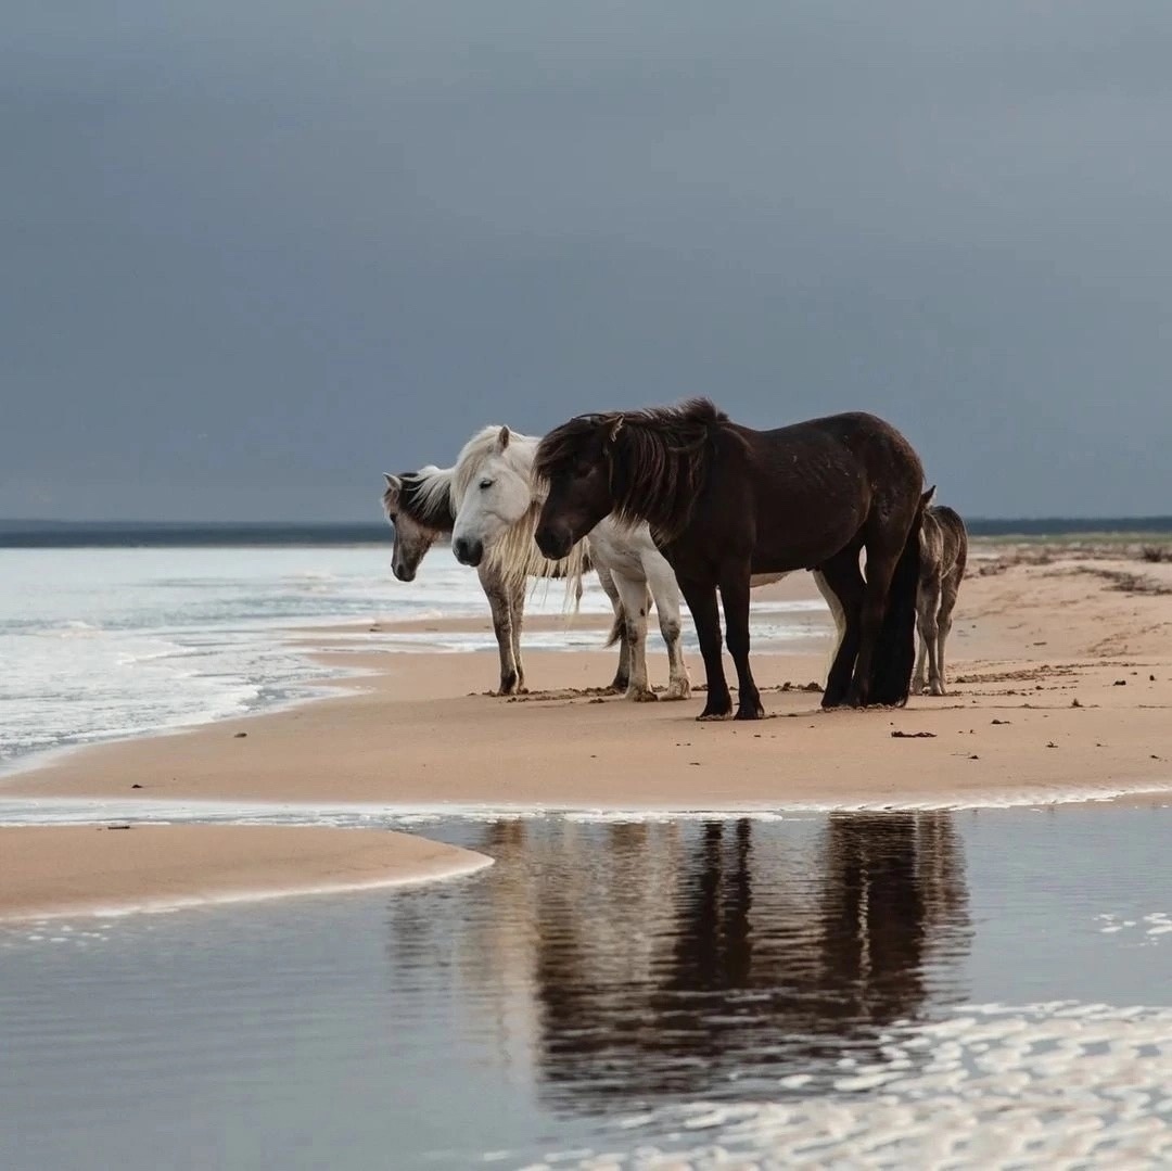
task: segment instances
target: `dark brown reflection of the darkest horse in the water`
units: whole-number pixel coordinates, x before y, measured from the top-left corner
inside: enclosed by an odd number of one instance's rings
[[[703,826],[666,946],[635,975],[600,973],[591,912],[613,914],[613,905],[584,908],[560,890],[543,896],[540,1062],[565,1104],[606,1109],[717,1092],[734,1071],[776,1078],[832,1068],[844,1042],[918,1015],[933,954],[963,947],[965,891],[947,815],[831,818],[824,871],[805,883],[788,872],[763,885],[771,869],[761,860],[755,881],[751,823],[738,822],[731,842],[728,829]],[[612,933],[622,926],[606,924]],[[632,922],[629,939],[641,930],[650,928]]]

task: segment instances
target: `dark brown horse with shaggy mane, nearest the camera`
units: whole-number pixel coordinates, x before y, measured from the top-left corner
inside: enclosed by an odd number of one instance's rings
[[[856,413],[755,431],[694,399],[572,418],[541,441],[533,471],[548,481],[534,535],[546,557],[564,557],[611,512],[650,525],[700,636],[708,672],[701,720],[732,710],[717,588],[740,682],[736,719],[757,720],[749,579],[791,570],[820,573],[845,620],[823,707],[906,702],[924,470],[888,423]]]

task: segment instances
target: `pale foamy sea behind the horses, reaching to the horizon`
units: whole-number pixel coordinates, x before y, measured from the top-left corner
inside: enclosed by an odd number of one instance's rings
[[[560,584],[530,613],[560,614]],[[820,601],[758,606],[756,634],[809,633]],[[582,613],[611,613],[591,576]],[[49,749],[161,731],[319,694],[338,674],[282,635],[299,626],[485,615],[447,547],[414,583],[386,545],[0,549],[0,770]],[[654,627],[653,627],[654,631]],[[688,626],[687,641],[695,649]],[[372,638],[362,638],[363,649]],[[491,631],[380,634],[388,652],[495,651]],[[597,647],[597,629],[529,632],[530,648]],[[649,653],[661,653],[657,632]],[[485,686],[495,667],[485,665]]]

